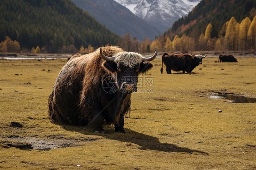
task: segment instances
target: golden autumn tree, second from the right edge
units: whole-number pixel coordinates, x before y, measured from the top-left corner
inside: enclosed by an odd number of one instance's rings
[[[239,26],[238,50],[247,49],[247,34],[248,34],[250,25],[251,25],[251,20],[249,19],[249,17],[246,17],[244,20],[242,20]]]

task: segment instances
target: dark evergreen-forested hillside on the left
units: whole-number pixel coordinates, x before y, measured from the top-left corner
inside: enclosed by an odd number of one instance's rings
[[[115,45],[119,37],[71,0],[1,0],[0,11],[0,41],[9,36],[23,49],[60,52],[69,45]]]

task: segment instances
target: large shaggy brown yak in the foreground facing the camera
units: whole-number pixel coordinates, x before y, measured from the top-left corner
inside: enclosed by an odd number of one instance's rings
[[[51,121],[92,125],[104,133],[104,120],[125,133],[124,115],[131,109],[131,93],[137,91],[138,74],[153,67],[138,53],[106,46],[86,55],[74,55],[64,65],[48,100]]]

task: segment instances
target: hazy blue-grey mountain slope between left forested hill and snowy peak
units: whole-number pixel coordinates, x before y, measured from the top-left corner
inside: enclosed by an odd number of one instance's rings
[[[114,0],[72,1],[118,35],[123,36],[129,32],[133,37],[143,40],[144,37],[154,39],[160,34],[156,27],[138,18]]]

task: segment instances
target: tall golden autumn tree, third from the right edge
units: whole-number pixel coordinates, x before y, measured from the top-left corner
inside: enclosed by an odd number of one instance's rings
[[[227,50],[237,50],[239,23],[231,17],[225,34]]]

